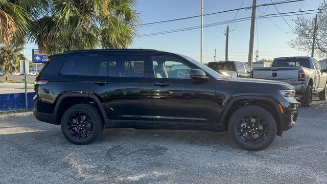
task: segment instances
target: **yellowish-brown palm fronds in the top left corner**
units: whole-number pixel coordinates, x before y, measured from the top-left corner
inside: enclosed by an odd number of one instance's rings
[[[23,44],[31,21],[48,6],[48,0],[0,0],[0,43]]]

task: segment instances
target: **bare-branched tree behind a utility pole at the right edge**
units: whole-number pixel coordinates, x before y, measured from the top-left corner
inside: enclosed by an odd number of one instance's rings
[[[319,6],[317,19],[317,32],[315,41],[315,54],[319,57],[327,56],[327,2],[323,1]],[[311,53],[313,32],[314,32],[314,17],[308,15],[300,15],[294,20],[296,26],[294,34],[296,38],[292,39],[288,44],[299,51]]]

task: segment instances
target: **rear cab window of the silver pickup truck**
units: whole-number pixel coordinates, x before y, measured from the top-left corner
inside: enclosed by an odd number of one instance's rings
[[[292,66],[302,66],[310,68],[310,61],[308,58],[285,58],[285,59],[275,59],[273,67],[292,67]]]

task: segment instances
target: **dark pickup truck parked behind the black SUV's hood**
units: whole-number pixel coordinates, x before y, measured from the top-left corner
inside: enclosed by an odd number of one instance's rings
[[[251,71],[252,71],[251,67],[244,62],[218,61],[218,62],[209,62],[207,66],[226,77],[244,77],[244,78],[251,77]]]

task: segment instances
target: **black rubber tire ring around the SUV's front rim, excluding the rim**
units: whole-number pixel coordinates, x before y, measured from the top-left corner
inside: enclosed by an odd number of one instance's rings
[[[266,139],[257,144],[246,143],[244,142],[238,134],[238,125],[241,122],[241,119],[249,116],[261,116],[261,120],[264,120],[267,123],[267,128],[269,133],[267,134]],[[228,123],[228,131],[232,140],[243,149],[246,150],[262,150],[267,148],[275,139],[277,133],[277,126],[272,115],[265,110],[264,108],[258,106],[246,106],[238,109],[235,113],[232,114],[229,123]]]

